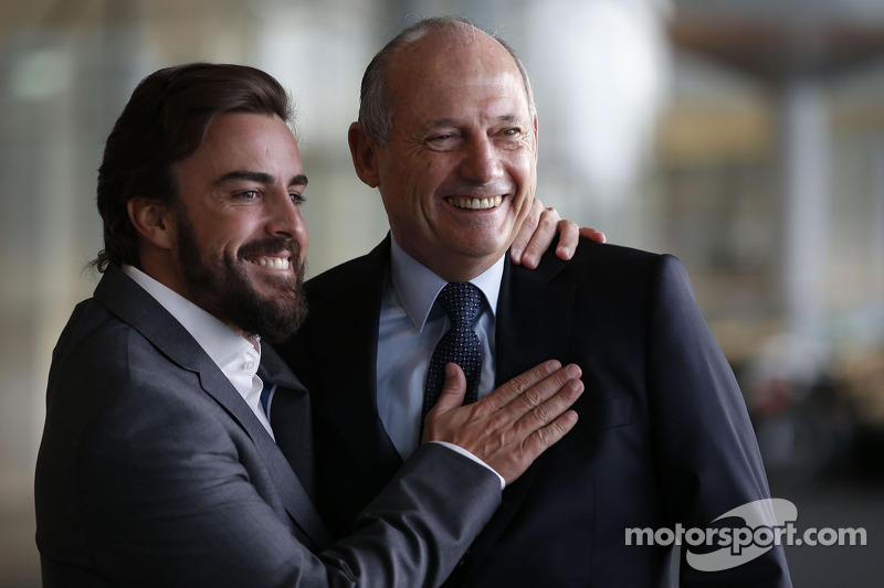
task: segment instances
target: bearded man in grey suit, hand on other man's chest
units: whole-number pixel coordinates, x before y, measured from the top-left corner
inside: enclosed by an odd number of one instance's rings
[[[263,72],[190,64],[145,78],[108,137],[103,277],[49,377],[44,586],[436,585],[503,483],[573,426],[576,366],[545,362],[471,407],[450,366],[427,419],[438,442],[332,542],[308,395],[263,344],[305,314],[307,180],[288,113]]]

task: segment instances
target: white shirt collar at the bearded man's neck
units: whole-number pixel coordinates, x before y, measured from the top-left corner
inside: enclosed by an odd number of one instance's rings
[[[222,372],[235,373],[245,371],[252,375],[257,372],[257,364],[261,361],[260,342],[257,350],[255,350],[248,339],[224,324],[217,317],[155,280],[140,269],[124,265],[123,271],[181,323]]]

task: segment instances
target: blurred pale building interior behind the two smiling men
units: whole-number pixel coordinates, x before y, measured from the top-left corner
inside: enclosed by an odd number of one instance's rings
[[[866,530],[865,547],[787,548],[796,586],[881,585],[884,0],[6,0],[0,586],[39,586],[50,354],[97,281],[96,169],[138,81],[203,60],[291,89],[315,275],[387,228],[346,145],[361,72],[403,24],[442,13],[522,55],[544,203],[685,263],[799,530]]]

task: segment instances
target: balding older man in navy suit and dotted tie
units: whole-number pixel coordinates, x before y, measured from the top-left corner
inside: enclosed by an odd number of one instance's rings
[[[667,549],[628,545],[629,530],[705,530],[769,498],[764,467],[675,258],[585,243],[569,263],[509,261],[537,135],[522,64],[466,22],[419,22],[368,66],[349,142],[390,236],[307,284],[311,319],[281,349],[315,395],[320,510],[347,533],[412,455],[452,338],[480,398],[562,356],[583,370],[581,420],[506,489],[450,584],[656,586]],[[726,562],[684,559],[684,585],[790,584],[778,546],[740,565],[716,547]]]

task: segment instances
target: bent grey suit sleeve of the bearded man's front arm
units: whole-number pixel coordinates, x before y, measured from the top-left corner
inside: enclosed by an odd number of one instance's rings
[[[122,344],[147,345],[138,336]],[[198,376],[158,364],[149,349],[129,349],[128,360],[125,374],[85,375],[92,365],[72,378],[85,383],[81,402],[102,400],[78,424],[52,420],[42,449],[45,460],[53,447],[74,449],[80,563],[112,585],[436,585],[499,503],[492,473],[427,447],[351,536],[308,548],[248,435],[202,391],[193,394]],[[45,493],[52,479],[42,482]]]

